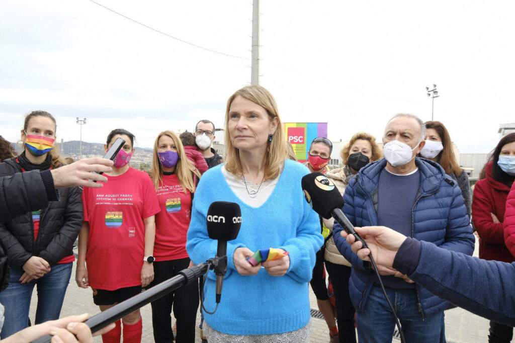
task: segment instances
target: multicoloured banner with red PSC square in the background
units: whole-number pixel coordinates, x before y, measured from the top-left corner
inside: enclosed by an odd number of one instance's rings
[[[327,138],[327,123],[284,123],[284,133],[299,162],[305,162],[311,142],[317,137]]]

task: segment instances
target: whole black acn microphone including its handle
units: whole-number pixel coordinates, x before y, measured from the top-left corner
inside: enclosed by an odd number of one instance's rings
[[[216,257],[219,258],[218,266],[215,266],[216,274],[216,303],[220,302],[224,276],[227,272],[227,241],[232,241],[238,236],[242,226],[242,211],[235,202],[215,201],[208,209],[208,235],[218,241]]]

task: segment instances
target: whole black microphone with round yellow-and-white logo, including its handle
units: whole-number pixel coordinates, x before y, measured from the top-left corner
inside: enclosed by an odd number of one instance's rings
[[[356,237],[356,241],[368,248],[364,239],[354,230],[349,219],[341,212],[344,207],[344,198],[338,192],[333,181],[329,180],[322,173],[311,173],[302,178],[302,190],[304,197],[316,213],[325,219],[334,218],[344,228],[345,232]]]

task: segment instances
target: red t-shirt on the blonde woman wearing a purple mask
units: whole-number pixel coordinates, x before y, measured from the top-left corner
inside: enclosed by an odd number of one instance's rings
[[[176,174],[163,175],[157,196],[161,212],[156,215],[156,261],[170,261],[188,257],[186,234],[190,227],[192,198],[179,184]]]

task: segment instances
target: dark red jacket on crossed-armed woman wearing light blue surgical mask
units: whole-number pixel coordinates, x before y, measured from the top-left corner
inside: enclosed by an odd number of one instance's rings
[[[510,188],[492,178],[492,163],[488,162],[485,168],[486,178],[475,184],[472,199],[472,220],[479,234],[479,258],[511,263],[515,258],[504,243],[502,222]],[[490,213],[501,222],[493,222]]]

